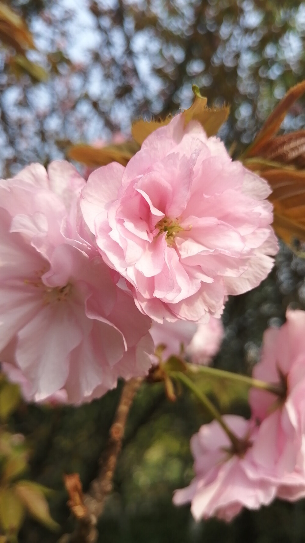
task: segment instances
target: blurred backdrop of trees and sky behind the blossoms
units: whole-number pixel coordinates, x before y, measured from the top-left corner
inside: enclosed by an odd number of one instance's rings
[[[5,4],[5,2],[2,2]],[[11,0],[35,48],[5,34],[0,11],[0,175],[29,162],[65,158],[71,144],[130,134],[131,120],[167,115],[192,103],[192,84],[209,105],[231,104],[220,130],[236,155],[290,86],[305,78],[305,3],[294,0]],[[304,103],[285,118],[285,131],[304,128]],[[75,165],[84,170],[79,163]],[[227,303],[218,367],[250,372],[262,333],[304,308],[305,261],[282,245],[259,288]],[[122,385],[79,408],[28,406],[5,421],[29,448],[27,477],[55,490],[52,515],[63,532],[74,521],[63,473],[78,471],[84,489],[98,458]],[[245,391],[213,387],[224,412],[247,414]],[[126,430],[115,491],[99,523],[107,543],[302,543],[305,503],[277,501],[245,511],[230,525],[195,523],[188,507],[171,504],[173,490],[192,478],[189,438],[207,421],[188,393],[170,403],[162,384],[145,384]],[[55,543],[27,519],[21,543]]]

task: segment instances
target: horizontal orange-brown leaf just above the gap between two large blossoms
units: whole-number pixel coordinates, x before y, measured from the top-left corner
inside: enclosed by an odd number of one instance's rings
[[[105,166],[113,161],[126,166],[138,150],[139,147],[134,141],[126,141],[101,148],[79,144],[67,150],[67,157],[91,167]]]

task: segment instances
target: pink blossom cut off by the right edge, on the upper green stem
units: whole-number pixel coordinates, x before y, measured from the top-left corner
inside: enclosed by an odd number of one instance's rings
[[[252,415],[260,421],[253,457],[274,480],[278,495],[305,496],[305,312],[288,310],[286,323],[264,333],[253,376],[283,388],[283,396],[251,389]]]

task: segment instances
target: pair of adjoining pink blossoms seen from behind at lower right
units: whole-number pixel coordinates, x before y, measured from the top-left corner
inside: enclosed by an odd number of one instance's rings
[[[305,312],[288,310],[281,329],[265,332],[254,377],[272,383],[279,394],[251,389],[251,419],[224,416],[237,446],[217,421],[193,436],[195,478],[176,491],[174,502],[191,501],[195,519],[229,521],[243,507],[258,509],[275,497],[305,497],[304,330]]]

